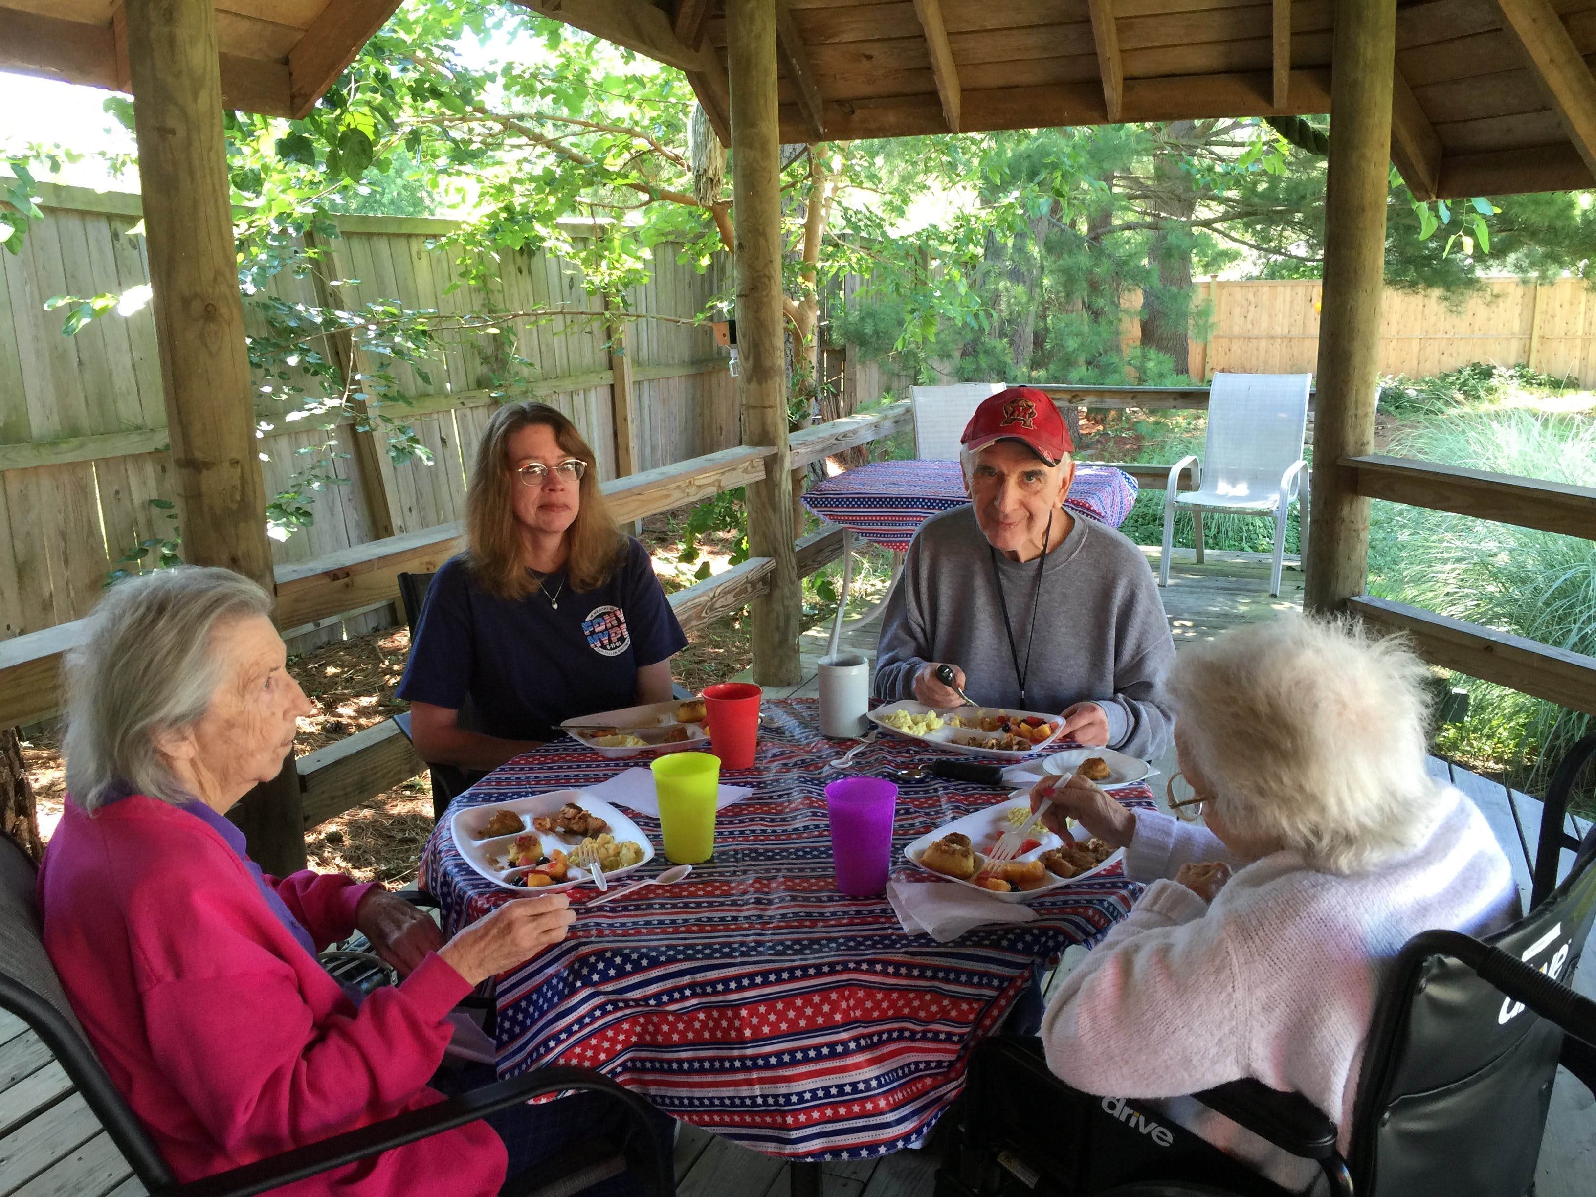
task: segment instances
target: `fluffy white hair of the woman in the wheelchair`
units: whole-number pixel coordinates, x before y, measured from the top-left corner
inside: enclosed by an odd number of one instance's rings
[[[1290,613],[1184,648],[1168,689],[1224,824],[1345,875],[1435,824],[1427,674],[1396,638]]]

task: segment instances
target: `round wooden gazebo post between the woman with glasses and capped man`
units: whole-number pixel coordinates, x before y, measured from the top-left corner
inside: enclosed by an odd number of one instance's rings
[[[736,215],[737,353],[742,444],[774,445],[764,480],[749,484],[749,551],[776,562],[753,600],[753,680],[792,686],[803,675],[803,605],[793,555],[787,354],[782,343],[782,193],[776,101],[776,0],[726,0],[731,184]]]

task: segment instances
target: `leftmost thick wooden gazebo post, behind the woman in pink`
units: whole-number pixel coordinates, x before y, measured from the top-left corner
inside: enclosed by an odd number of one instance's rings
[[[128,0],[152,310],[172,439],[184,560],[273,592],[267,498],[238,290],[212,0]],[[233,808],[267,871],[305,867],[292,758]]]

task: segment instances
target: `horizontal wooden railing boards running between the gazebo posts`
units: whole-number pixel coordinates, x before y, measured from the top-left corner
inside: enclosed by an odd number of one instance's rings
[[[1082,407],[1202,409],[1205,388],[1045,386],[1055,401]],[[792,461],[801,468],[841,448],[867,444],[908,428],[908,404],[849,417],[795,433]],[[736,447],[603,484],[618,519],[669,511],[764,477],[774,450]],[[1535,479],[1481,474],[1406,458],[1347,458],[1357,488],[1436,511],[1452,511],[1531,528],[1596,539],[1596,490]],[[1167,482],[1159,464],[1120,464],[1143,487]],[[1186,482],[1191,479],[1187,476]],[[391,602],[401,571],[436,570],[456,547],[460,527],[440,525],[327,557],[284,565],[276,571],[278,622],[282,627],[337,618],[373,602]],[[798,543],[800,576],[835,560],[843,549],[839,528]],[[734,611],[769,587],[769,559],[752,559],[670,597],[683,626],[694,629]],[[1484,681],[1574,710],[1596,713],[1596,659],[1539,645],[1495,629],[1449,619],[1432,611],[1368,595],[1352,610],[1365,619],[1406,632],[1428,661]],[[59,661],[78,637],[78,622],[0,642],[0,726],[30,723],[59,707]],[[421,769],[409,742],[385,721],[298,760],[303,825],[350,809]]]

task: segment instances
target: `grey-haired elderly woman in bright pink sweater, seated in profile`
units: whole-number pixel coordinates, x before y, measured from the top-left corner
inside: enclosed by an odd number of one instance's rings
[[[428,1082],[452,1007],[573,918],[563,895],[530,897],[444,943],[378,884],[262,875],[223,814],[278,776],[313,710],[270,614],[236,573],[161,570],[112,587],[67,658],[70,798],[38,878],[45,948],[185,1181],[440,1100]],[[407,974],[359,1004],[316,962],[354,929]],[[586,1095],[506,1112],[292,1191],[493,1194],[508,1168],[535,1171],[614,1117]]]

